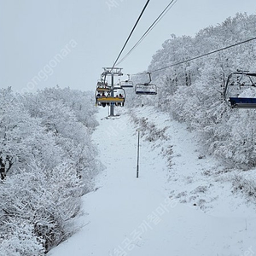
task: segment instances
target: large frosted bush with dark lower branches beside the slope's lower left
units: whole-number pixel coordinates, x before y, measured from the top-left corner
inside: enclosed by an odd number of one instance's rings
[[[9,230],[14,219],[29,224],[46,249],[73,232],[70,221],[79,212],[82,184],[72,166],[47,169],[33,163],[20,174],[6,177],[0,191],[2,228]]]

